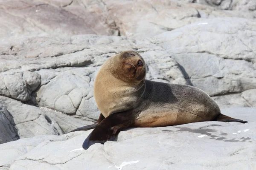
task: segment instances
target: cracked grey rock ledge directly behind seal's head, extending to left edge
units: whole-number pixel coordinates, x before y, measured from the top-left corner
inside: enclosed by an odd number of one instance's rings
[[[37,39],[38,41],[36,41]],[[44,40],[47,42],[46,45],[39,45]],[[52,38],[52,42],[55,43],[52,43],[51,46],[47,45],[51,41],[49,37],[34,37],[23,41],[27,42],[27,45],[23,48],[30,47],[32,53],[38,50],[50,51],[54,49],[56,52],[52,52],[56,54],[57,51],[62,50],[62,48],[58,49],[59,41],[55,41],[54,38]],[[9,69],[0,74],[5,76],[17,74],[20,75],[20,79],[22,75],[25,75],[24,73],[33,74],[34,76],[34,81],[32,76],[22,77],[23,86],[21,87],[27,91],[26,98],[15,98],[14,95],[10,94],[4,96],[95,120],[99,116],[93,99],[93,81],[96,72],[108,57],[114,55],[115,52],[127,49],[136,49],[148,62],[148,79],[186,83],[175,60],[170,58],[169,54],[163,51],[162,48],[152,43],[146,42],[145,44],[144,41],[135,41],[126,37],[96,35],[73,36],[70,41],[63,43],[74,48],[79,45],[83,50],[72,52],[66,49],[64,52],[67,54],[64,53],[57,57],[52,57],[45,52],[44,56],[38,56],[36,59],[23,59],[24,53],[21,49],[10,64],[6,64],[4,59],[2,62],[0,61],[0,65],[5,65]],[[6,44],[6,46],[9,45]],[[72,49],[70,48],[70,50]],[[46,55],[50,55],[49,58]],[[16,69],[12,70],[14,66]],[[38,82],[41,82],[39,86]],[[3,84],[5,83],[3,82]],[[33,86],[36,88],[31,88]],[[14,86],[14,88],[18,87]],[[19,89],[15,93],[16,96],[23,94],[19,92]]]

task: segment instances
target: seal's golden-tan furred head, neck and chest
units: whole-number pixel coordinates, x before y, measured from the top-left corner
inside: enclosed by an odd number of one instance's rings
[[[145,63],[136,52],[125,51],[110,57],[99,70],[94,82],[94,98],[105,117],[134,108],[139,102],[140,98],[133,94],[144,85],[146,74],[145,64],[135,70],[139,60]]]

